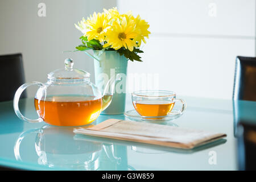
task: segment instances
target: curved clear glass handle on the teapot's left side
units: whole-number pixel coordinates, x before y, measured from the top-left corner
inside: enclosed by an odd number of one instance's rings
[[[23,84],[22,86],[20,86],[18,88],[18,90],[16,91],[15,93],[15,96],[14,96],[14,100],[13,100],[13,108],[14,108],[14,111],[16,113],[16,115],[22,119],[23,121],[26,121],[26,122],[29,122],[29,123],[39,123],[39,122],[42,122],[43,119],[42,118],[38,118],[38,119],[28,119],[26,117],[24,117],[24,115],[22,115],[22,113],[20,113],[19,111],[19,97],[20,95],[22,94],[22,92],[28,87],[28,86],[31,86],[31,85],[38,85],[40,87],[43,87],[44,84],[42,84],[41,82],[38,82],[38,81],[32,81],[32,82],[28,82],[26,84]]]

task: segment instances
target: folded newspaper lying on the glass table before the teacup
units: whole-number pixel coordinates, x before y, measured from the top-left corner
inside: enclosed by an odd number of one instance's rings
[[[108,119],[96,126],[74,129],[73,132],[94,137],[129,140],[184,149],[191,149],[226,137],[226,134],[223,133],[210,133],[120,119]]]

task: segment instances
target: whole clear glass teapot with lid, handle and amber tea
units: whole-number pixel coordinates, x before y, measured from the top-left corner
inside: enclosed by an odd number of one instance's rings
[[[46,122],[55,126],[88,125],[98,118],[102,110],[110,105],[114,92],[115,78],[107,82],[103,94],[90,82],[90,73],[73,68],[73,60],[65,59],[65,68],[48,74],[43,84],[33,81],[23,84],[14,96],[14,111],[26,122]],[[34,104],[38,119],[28,119],[19,111],[19,97],[30,85],[38,85]]]

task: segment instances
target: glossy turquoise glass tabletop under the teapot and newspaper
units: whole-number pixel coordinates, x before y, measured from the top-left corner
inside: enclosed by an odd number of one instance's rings
[[[0,166],[32,170],[238,169],[232,100],[182,98],[187,101],[185,113],[162,125],[226,133],[227,137],[193,150],[86,137],[75,135],[72,132],[74,127],[49,126],[44,122],[25,123],[16,117],[13,101],[1,102]],[[20,100],[19,105],[26,117],[37,118],[32,98]],[[133,105],[127,97],[126,110],[130,109]],[[123,114],[100,115],[91,125],[109,118],[128,119]],[[212,162],[213,155],[215,163]]]

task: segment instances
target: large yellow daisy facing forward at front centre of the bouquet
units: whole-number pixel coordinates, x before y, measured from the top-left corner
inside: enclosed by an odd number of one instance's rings
[[[114,21],[112,28],[107,31],[106,41],[108,43],[104,44],[104,47],[110,46],[115,50],[125,47],[129,51],[133,51],[133,48],[137,47],[133,39],[138,35],[135,26],[135,22],[133,20],[127,22],[125,16],[121,21],[119,19]]]

